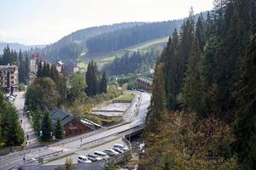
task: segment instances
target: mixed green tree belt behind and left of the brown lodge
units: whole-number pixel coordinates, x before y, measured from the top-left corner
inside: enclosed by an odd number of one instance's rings
[[[63,128],[60,120],[55,122],[55,127],[49,115],[54,107],[73,105],[73,102],[84,101],[87,96],[107,93],[108,78],[106,73],[97,70],[96,63],[91,61],[88,65],[86,76],[77,72],[67,79],[59,73],[55,65],[42,62],[38,65],[37,78],[28,86],[26,92],[26,107],[31,111],[33,127],[39,134],[43,131],[44,140],[63,138]]]

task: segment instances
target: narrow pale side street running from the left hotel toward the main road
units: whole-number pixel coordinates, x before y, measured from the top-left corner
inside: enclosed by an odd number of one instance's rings
[[[39,146],[40,143],[38,142],[38,139],[34,133],[34,130],[32,128],[32,125],[30,124],[26,114],[24,113],[24,105],[25,105],[25,93],[19,92],[16,99],[15,99],[15,107],[19,113],[20,120],[22,120],[22,128],[24,130],[25,136],[28,134],[28,140],[26,148],[33,148],[35,146]]]

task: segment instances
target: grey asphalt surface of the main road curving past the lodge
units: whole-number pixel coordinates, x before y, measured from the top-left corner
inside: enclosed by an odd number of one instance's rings
[[[26,160],[31,160],[32,158],[37,158],[38,156],[46,156],[48,154],[53,154],[56,151],[61,151],[63,150],[64,154],[70,154],[77,152],[78,150],[83,150],[84,146],[87,146],[88,144],[102,144],[102,140],[104,140],[104,143],[112,140],[114,136],[117,135],[117,133],[123,133],[124,131],[129,131],[131,127],[137,127],[140,124],[143,124],[145,120],[145,116],[147,114],[147,108],[150,104],[150,97],[151,94],[148,93],[142,93],[141,95],[141,101],[140,104],[133,103],[132,105],[137,105],[138,112],[137,115],[133,114],[134,117],[132,118],[131,123],[126,123],[124,125],[120,125],[119,127],[112,127],[107,130],[102,130],[99,131],[98,133],[88,133],[88,134],[83,134],[80,135],[86,136],[86,138],[80,139],[80,136],[74,137],[74,141],[70,141],[70,139],[64,139],[59,143],[56,144],[51,144],[49,146],[45,147],[38,147],[38,148],[33,148],[30,150],[24,150],[16,153],[9,154],[8,156],[1,156],[0,157],[0,170],[8,170],[11,167],[15,167],[17,165],[23,165],[23,157],[25,156]],[[132,108],[132,106],[131,106]],[[134,111],[134,110],[131,110]],[[92,135],[93,134],[93,135]],[[82,147],[82,145],[83,147]],[[54,146],[54,150],[53,147]],[[26,152],[26,154],[24,154]],[[55,156],[49,156],[48,159],[53,159]]]

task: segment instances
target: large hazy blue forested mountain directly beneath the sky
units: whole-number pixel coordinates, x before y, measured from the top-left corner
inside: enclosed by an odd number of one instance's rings
[[[203,14],[206,17],[207,12]],[[198,16],[199,14],[195,14],[195,20]],[[49,61],[77,60],[86,54],[106,54],[141,42],[170,36],[172,31],[182,24],[183,19],[90,27],[75,31],[58,42],[34,50],[33,53],[39,53]]]

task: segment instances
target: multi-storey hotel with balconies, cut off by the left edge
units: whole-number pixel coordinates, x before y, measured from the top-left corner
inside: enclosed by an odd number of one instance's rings
[[[0,88],[9,93],[18,88],[19,68],[16,65],[0,65]]]

